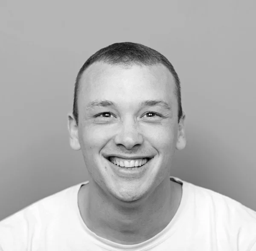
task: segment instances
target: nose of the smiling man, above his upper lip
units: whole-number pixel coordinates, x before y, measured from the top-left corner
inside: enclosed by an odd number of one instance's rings
[[[131,149],[135,145],[143,143],[143,136],[140,132],[140,128],[133,119],[122,121],[120,127],[120,130],[114,138],[114,142],[117,145],[122,144],[127,149]]]

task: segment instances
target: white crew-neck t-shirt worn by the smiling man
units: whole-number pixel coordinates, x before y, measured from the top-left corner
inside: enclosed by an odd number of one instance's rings
[[[79,183],[0,222],[0,251],[256,251],[256,211],[179,178],[180,206],[145,242],[122,245],[97,236],[81,218]]]

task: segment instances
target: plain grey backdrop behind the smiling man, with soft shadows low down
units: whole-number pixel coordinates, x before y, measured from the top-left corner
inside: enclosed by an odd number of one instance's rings
[[[142,43],[181,81],[187,145],[170,175],[256,210],[256,2],[0,0],[0,219],[87,180],[69,145],[77,72]]]

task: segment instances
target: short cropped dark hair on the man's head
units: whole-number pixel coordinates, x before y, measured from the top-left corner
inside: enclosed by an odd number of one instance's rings
[[[73,102],[73,115],[78,125],[78,106],[77,106],[77,97],[79,90],[79,81],[81,75],[91,64],[95,62],[103,62],[111,65],[120,65],[120,66],[151,66],[155,64],[163,64],[169,69],[175,78],[175,95],[177,96],[178,101],[178,123],[181,116],[183,115],[182,106],[181,106],[181,93],[180,93],[180,79],[168,59],[163,56],[161,53],[157,52],[154,49],[151,49],[140,43],[132,42],[122,42],[122,43],[113,43],[105,48],[100,49],[95,54],[90,56],[81,69],[78,72],[76,77],[75,89],[74,89],[74,102]]]

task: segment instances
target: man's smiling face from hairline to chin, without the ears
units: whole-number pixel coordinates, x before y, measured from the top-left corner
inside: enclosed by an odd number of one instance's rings
[[[163,65],[123,68],[93,63],[83,73],[78,96],[79,144],[91,178],[108,195],[134,201],[169,179],[178,136],[174,89],[174,78]],[[117,107],[87,109],[89,102],[103,100]],[[145,100],[163,100],[172,110],[140,107]],[[109,156],[150,160],[131,170],[113,164]]]

